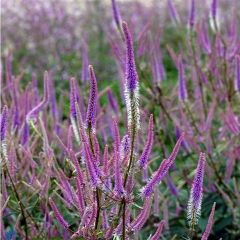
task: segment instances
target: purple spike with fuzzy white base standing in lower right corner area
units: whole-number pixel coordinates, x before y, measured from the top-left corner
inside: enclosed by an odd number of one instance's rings
[[[194,228],[194,225],[197,224],[198,218],[201,215],[205,161],[205,153],[200,153],[187,208],[187,218],[191,228]]]

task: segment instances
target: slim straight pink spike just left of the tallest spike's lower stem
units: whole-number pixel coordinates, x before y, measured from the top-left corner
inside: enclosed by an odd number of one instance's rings
[[[118,194],[118,196],[122,196],[124,193],[124,189],[120,167],[120,137],[118,124],[115,119],[113,119],[113,128],[114,128],[113,131],[114,131],[114,172],[115,172],[114,191]]]

